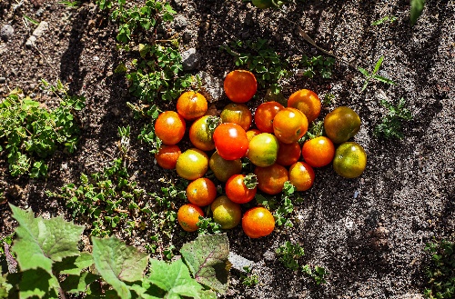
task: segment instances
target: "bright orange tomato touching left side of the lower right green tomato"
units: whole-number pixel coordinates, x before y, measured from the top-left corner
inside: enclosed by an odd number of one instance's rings
[[[302,146],[305,162],[312,167],[322,167],[332,162],[335,155],[335,145],[325,136],[310,139]]]

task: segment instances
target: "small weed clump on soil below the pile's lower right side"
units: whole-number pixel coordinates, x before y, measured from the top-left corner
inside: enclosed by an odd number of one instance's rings
[[[300,269],[312,277],[317,284],[326,283],[325,276],[328,274],[326,269],[319,266],[315,266],[314,269],[311,269],[309,264],[299,264],[299,260],[305,254],[303,248],[299,244],[293,244],[286,241],[277,248],[276,253],[279,256],[279,261],[288,269],[293,271]]]

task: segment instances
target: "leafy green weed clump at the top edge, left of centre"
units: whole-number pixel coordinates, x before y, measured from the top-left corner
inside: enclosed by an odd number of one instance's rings
[[[112,3],[102,0],[98,1],[98,5],[101,9],[108,8],[109,5],[112,7]],[[117,0],[116,9],[112,12],[112,18],[120,23],[116,39],[124,44],[128,43],[138,29],[153,31],[159,22],[170,22],[176,14],[171,5],[157,0],[147,0],[141,7],[135,5],[126,9],[125,5],[126,0]]]

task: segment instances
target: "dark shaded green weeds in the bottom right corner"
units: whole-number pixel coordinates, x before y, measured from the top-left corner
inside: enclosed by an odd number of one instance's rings
[[[425,296],[430,299],[455,297],[455,244],[433,242],[425,246],[425,251],[431,254],[431,266],[427,269],[430,280]]]

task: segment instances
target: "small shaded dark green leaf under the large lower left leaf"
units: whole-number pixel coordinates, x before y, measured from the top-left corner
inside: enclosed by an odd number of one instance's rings
[[[43,298],[45,294],[55,293],[54,289],[58,289],[58,287],[56,276],[48,274],[45,270],[41,268],[26,270],[19,283],[19,297],[21,299],[33,296]]]

